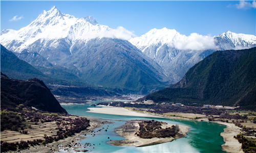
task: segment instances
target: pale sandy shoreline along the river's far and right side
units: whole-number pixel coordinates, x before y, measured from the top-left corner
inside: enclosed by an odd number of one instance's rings
[[[187,116],[187,118],[183,117],[176,117],[176,116],[166,116],[166,115],[155,115],[150,113],[142,113],[142,112],[135,112],[127,110],[125,108],[119,107],[102,107],[102,108],[89,108],[89,112],[93,113],[102,113],[102,114],[114,114],[114,115],[129,115],[129,116],[143,116],[143,117],[158,117],[158,118],[172,118],[172,119],[184,119],[184,120],[195,120],[191,119],[194,118],[193,114],[187,114],[191,116]],[[207,118],[199,118],[196,119],[198,121],[208,121]],[[215,121],[216,122],[216,121]],[[241,131],[240,128],[232,123],[225,123],[225,122],[216,122],[219,124],[224,124],[227,127],[224,129],[224,132],[221,133],[223,137],[224,144],[222,145],[222,149],[226,152],[243,152],[241,149],[241,144],[238,142],[237,139],[233,138],[233,136],[238,135]]]

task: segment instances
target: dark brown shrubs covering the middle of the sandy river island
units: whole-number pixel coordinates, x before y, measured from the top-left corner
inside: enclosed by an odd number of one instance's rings
[[[178,125],[172,125],[172,127],[167,127],[162,129],[162,122],[159,121],[142,121],[139,123],[139,132],[135,133],[140,138],[165,138],[165,137],[175,137],[179,131]]]

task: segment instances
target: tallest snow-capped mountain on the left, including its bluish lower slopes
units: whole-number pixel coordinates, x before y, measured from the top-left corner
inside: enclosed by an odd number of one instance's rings
[[[27,27],[3,30],[0,43],[54,79],[140,94],[163,88],[163,69],[127,41],[132,35],[53,7]]]

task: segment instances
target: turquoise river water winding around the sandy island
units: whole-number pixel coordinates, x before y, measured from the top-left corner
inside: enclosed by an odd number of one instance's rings
[[[113,100],[111,100],[113,101]],[[82,105],[61,105],[67,110],[69,114],[92,116],[103,118],[105,120],[113,121],[112,124],[104,124],[104,130],[95,133],[94,135],[88,134],[86,139],[81,140],[79,143],[95,144],[90,149],[91,152],[223,152],[221,145],[224,144],[223,138],[220,133],[223,132],[225,125],[204,122],[192,121],[181,119],[166,119],[166,118],[153,118],[153,117],[137,117],[137,116],[123,116],[123,115],[110,115],[100,113],[90,113],[88,108],[93,107],[92,104],[102,102],[110,102],[110,100],[90,101],[88,104]],[[112,120],[113,119],[113,120]],[[125,123],[125,120],[131,119],[155,119],[158,121],[183,124],[190,126],[188,135],[184,138],[176,139],[172,142],[166,142],[157,145],[144,146],[144,147],[128,147],[128,146],[113,146],[107,142],[110,140],[123,140],[124,138],[118,136],[114,130],[116,127]],[[100,127],[99,129],[102,129]],[[96,129],[97,131],[98,129]],[[109,139],[108,139],[109,137]]]

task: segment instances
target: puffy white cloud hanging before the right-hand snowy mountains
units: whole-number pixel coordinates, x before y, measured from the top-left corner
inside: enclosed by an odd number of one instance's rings
[[[185,50],[206,50],[218,48],[213,37],[202,36],[197,33],[192,33],[188,37],[184,37],[183,40],[177,41],[175,46],[178,49]]]

